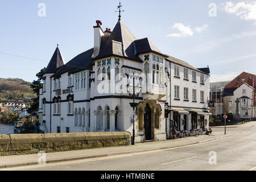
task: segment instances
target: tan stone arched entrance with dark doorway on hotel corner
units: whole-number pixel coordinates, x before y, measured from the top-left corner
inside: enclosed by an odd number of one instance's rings
[[[161,128],[162,107],[155,100],[145,100],[138,104],[136,115],[137,132],[143,132],[144,142],[156,140],[155,131]]]

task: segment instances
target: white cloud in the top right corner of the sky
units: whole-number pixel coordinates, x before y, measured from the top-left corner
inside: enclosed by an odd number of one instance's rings
[[[256,2],[226,2],[222,3],[224,11],[230,14],[236,14],[243,20],[256,20]]]

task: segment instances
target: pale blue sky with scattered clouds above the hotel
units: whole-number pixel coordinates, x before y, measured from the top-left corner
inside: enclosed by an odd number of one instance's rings
[[[122,22],[137,39],[193,67],[210,81],[256,75],[256,1],[122,0]],[[0,77],[36,80],[59,44],[65,63],[93,47],[93,26],[113,30],[119,1],[1,0]]]

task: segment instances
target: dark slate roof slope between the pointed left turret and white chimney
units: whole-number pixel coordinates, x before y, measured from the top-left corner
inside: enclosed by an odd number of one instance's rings
[[[93,55],[93,48],[89,49],[88,51],[82,52],[76,57],[74,57],[71,61],[67,64],[63,65],[54,75],[51,77],[58,77],[63,73],[72,72],[76,73],[84,69],[92,69],[92,59]]]

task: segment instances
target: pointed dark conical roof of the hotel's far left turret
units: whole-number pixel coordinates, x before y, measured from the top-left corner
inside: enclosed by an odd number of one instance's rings
[[[61,56],[59,46],[55,49],[51,60],[46,68],[44,74],[55,73],[61,66],[64,65],[63,57]]]

